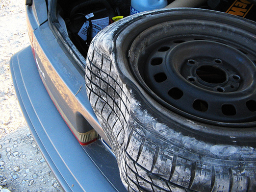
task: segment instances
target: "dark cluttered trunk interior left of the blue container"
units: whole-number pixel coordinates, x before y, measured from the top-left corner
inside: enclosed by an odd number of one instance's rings
[[[111,24],[113,17],[126,17],[130,10],[128,0],[76,0],[72,3],[58,0],[57,3],[58,21],[84,58],[95,34]],[[91,13],[93,17],[87,19],[85,16]]]

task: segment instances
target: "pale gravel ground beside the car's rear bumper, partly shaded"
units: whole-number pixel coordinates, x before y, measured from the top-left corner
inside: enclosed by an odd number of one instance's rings
[[[30,134],[11,79],[11,56],[29,45],[25,0],[0,0],[0,31],[0,192],[62,192]]]

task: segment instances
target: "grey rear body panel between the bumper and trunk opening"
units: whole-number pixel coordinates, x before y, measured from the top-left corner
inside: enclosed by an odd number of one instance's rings
[[[36,21],[33,16],[30,16],[33,14],[32,7],[27,6],[26,9],[28,25],[32,26],[32,29],[28,26],[28,31],[36,65],[60,114],[79,141],[82,135],[79,134],[82,133],[79,130],[81,126],[78,126],[80,121],[88,122],[85,123],[88,130],[93,127],[107,141],[88,100],[83,71],[77,69],[74,58],[68,53],[62,41],[54,36],[49,22],[45,22],[34,29],[33,26],[36,25]]]

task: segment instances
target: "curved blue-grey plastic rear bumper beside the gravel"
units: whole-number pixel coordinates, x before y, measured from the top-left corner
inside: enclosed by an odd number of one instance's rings
[[[42,83],[31,48],[16,53],[10,68],[26,122],[64,191],[126,191],[116,159],[102,141],[77,142]]]

